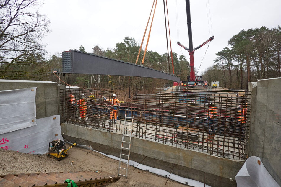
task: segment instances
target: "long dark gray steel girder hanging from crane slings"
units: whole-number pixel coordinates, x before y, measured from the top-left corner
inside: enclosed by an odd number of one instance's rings
[[[179,82],[180,78],[151,68],[77,50],[62,52],[63,72],[160,78]]]

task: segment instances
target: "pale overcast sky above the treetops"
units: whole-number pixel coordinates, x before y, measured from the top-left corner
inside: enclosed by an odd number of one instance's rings
[[[87,52],[92,52],[95,45],[103,50],[113,50],[115,44],[123,42],[126,36],[134,38],[140,44],[153,0],[44,2],[40,13],[46,14],[50,19],[51,32],[43,38],[43,42],[47,44],[46,49],[51,56],[79,49],[81,45]],[[178,57],[185,55],[189,61],[188,51],[177,45],[179,41],[189,47],[185,1],[167,2],[172,51]],[[190,7],[193,47],[202,44],[212,35],[215,36],[213,41],[194,52],[194,66],[196,70],[199,69],[198,75],[214,65],[215,53],[227,47],[228,40],[242,29],[262,26],[272,29],[281,26],[281,0],[190,0]],[[163,1],[160,0],[157,2],[147,47],[147,50],[156,51],[160,55],[167,52],[163,9]],[[145,45],[146,39],[143,49]]]

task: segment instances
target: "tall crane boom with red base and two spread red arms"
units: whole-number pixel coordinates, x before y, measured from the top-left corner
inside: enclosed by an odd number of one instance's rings
[[[195,47],[193,49],[192,45],[192,30],[191,30],[191,17],[190,17],[190,4],[189,0],[186,0],[186,15],[187,15],[187,30],[188,30],[188,40],[189,40],[189,48],[182,45],[180,42],[177,42],[179,46],[183,47],[185,50],[189,51],[189,58],[190,58],[190,81],[195,81],[195,72],[194,72],[194,58],[193,54],[194,51],[202,47],[203,45],[207,44],[208,42],[214,40],[214,36],[210,37],[207,41]]]

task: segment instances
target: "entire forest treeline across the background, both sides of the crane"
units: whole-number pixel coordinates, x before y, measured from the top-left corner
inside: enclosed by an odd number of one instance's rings
[[[52,55],[51,58],[46,58],[48,52],[40,40],[50,32],[48,29],[50,22],[45,15],[30,12],[31,7],[38,7],[39,2],[38,0],[26,0],[18,4],[17,1],[1,1],[1,79],[48,80],[84,88],[118,89],[128,91],[129,96],[138,94],[140,91],[142,91],[141,93],[154,93],[156,88],[173,84],[171,81],[153,78],[84,74],[57,75],[59,80],[52,72],[62,69],[61,57]],[[25,19],[23,19],[23,15]],[[136,63],[139,45],[133,37],[126,36],[123,42],[116,43],[113,50],[104,50],[95,44],[93,44],[92,51],[85,51],[83,44],[79,50],[84,53]],[[202,73],[203,80],[220,81],[220,86],[226,88],[247,89],[248,82],[279,77],[280,50],[280,26],[272,29],[261,27],[247,31],[241,30],[230,38],[224,49],[216,53],[217,58],[214,65]],[[143,55],[144,50],[141,50],[139,65]],[[172,55],[174,75],[186,81],[190,73],[189,61],[184,55],[174,52]],[[160,55],[155,51],[147,51],[144,66],[172,73],[171,54]]]

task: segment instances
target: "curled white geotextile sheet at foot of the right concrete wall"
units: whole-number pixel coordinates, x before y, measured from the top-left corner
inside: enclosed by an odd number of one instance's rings
[[[260,165],[258,163],[260,161]],[[259,157],[251,156],[235,176],[238,187],[280,187],[268,173]]]

